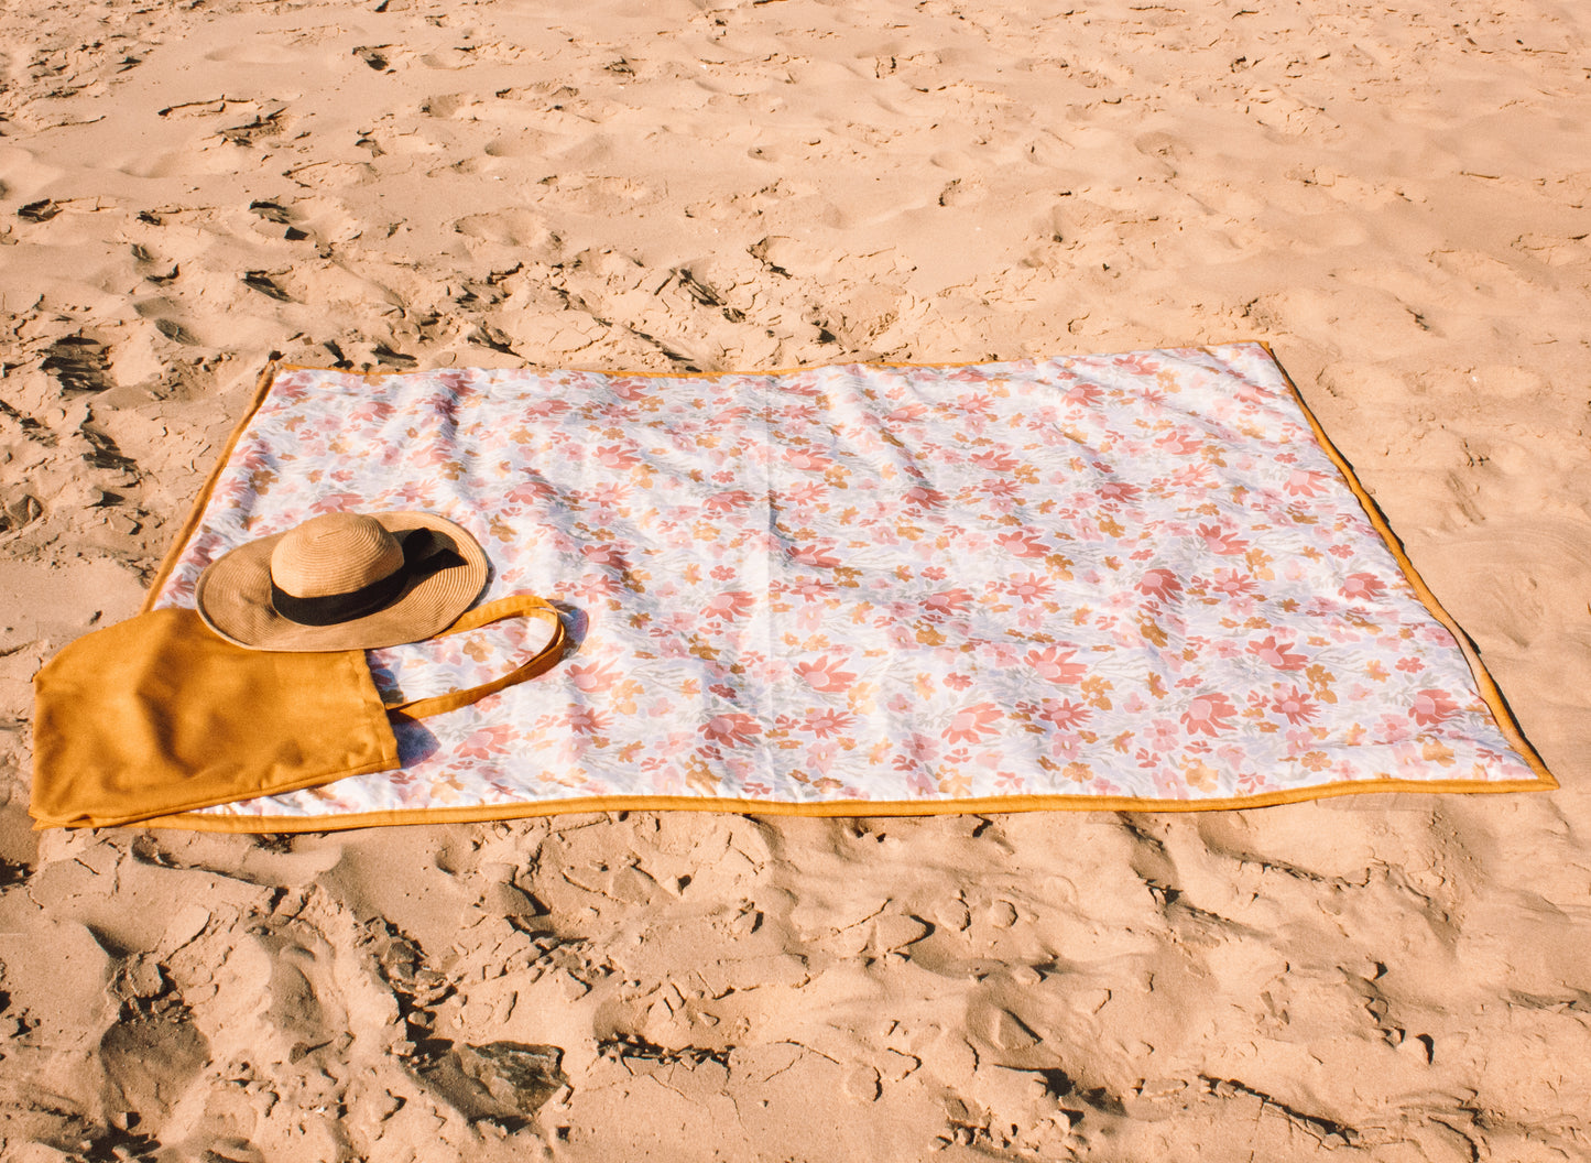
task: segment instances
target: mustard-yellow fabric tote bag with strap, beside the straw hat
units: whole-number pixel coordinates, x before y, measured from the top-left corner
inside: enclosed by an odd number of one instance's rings
[[[441,636],[519,616],[555,627],[533,659],[403,703],[382,702],[364,651],[250,651],[191,609],[95,630],[33,678],[33,827],[132,824],[396,768],[390,716],[468,706],[563,657],[557,609],[530,595],[471,609]]]

